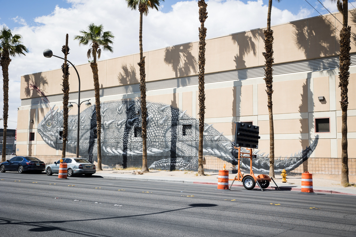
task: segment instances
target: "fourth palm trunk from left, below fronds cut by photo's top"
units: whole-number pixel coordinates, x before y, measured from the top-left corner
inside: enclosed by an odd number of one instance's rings
[[[140,62],[137,63],[140,66],[140,91],[141,91],[141,117],[142,117],[142,172],[150,172],[147,166],[147,107],[146,107],[146,73],[145,73],[145,57],[143,56],[142,49],[142,16],[145,6],[140,4],[138,10],[140,10]]]

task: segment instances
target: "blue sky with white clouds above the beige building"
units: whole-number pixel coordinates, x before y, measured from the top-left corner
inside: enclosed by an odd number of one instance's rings
[[[328,11],[317,0],[307,0],[321,14]],[[307,17],[318,16],[306,0],[273,1],[272,25]],[[206,0],[208,18],[205,22],[207,39],[226,34],[263,28],[267,25],[268,0]],[[331,12],[336,4],[320,0]],[[350,2],[356,6],[354,0]],[[114,53],[102,52],[100,60],[139,53],[139,12],[127,8],[125,0],[0,0],[0,27],[8,27],[21,34],[23,44],[29,49],[26,56],[12,58],[9,66],[9,122],[15,129],[20,100],[21,75],[61,68],[57,58],[44,58],[43,50],[52,49],[62,55],[66,33],[69,34],[68,59],[75,65],[88,63],[87,46],[79,46],[74,36],[90,23],[103,24],[105,31],[115,36]],[[349,9],[353,8],[349,4]],[[143,18],[143,50],[153,50],[171,45],[198,41],[197,1],[166,0],[159,11],[151,10]],[[2,80],[0,80],[2,88]],[[0,94],[0,104],[3,94]],[[0,106],[0,118],[2,106]],[[0,128],[3,124],[0,124]]]

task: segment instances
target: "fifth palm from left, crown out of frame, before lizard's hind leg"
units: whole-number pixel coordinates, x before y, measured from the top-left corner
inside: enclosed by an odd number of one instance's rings
[[[199,6],[199,147],[198,147],[198,175],[204,175],[203,166],[203,131],[204,131],[204,115],[205,115],[205,93],[204,93],[204,66],[205,66],[205,37],[206,28],[204,22],[208,18],[208,12],[206,12],[206,6],[204,0],[198,1]]]

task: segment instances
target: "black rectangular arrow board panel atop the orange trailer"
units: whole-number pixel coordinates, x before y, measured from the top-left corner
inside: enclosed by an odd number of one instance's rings
[[[235,122],[235,147],[258,148],[259,130],[259,126]]]

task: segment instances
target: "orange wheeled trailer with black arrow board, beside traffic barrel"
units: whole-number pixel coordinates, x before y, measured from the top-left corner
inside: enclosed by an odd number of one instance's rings
[[[244,187],[248,190],[255,188],[256,183],[258,187],[260,187],[261,191],[263,191],[264,188],[268,188],[269,182],[271,182],[271,180],[274,184],[276,184],[272,177],[269,177],[266,174],[255,175],[252,170],[252,159],[256,158],[256,155],[252,155],[252,149],[258,148],[258,139],[260,139],[259,129],[260,127],[254,126],[252,124],[235,122],[234,149],[239,151],[239,158],[237,159],[238,162],[236,166],[237,174],[234,179],[229,179],[232,180],[230,189],[235,180],[242,182]],[[243,152],[241,147],[246,147],[246,152]],[[250,158],[250,174],[242,174],[240,170],[240,160],[242,157]],[[276,187],[278,190],[281,190],[277,184]]]

